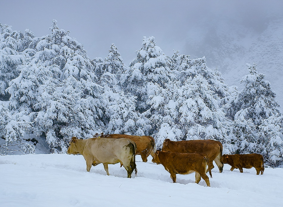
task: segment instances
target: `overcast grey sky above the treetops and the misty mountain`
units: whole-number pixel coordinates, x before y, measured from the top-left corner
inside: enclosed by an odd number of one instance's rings
[[[189,55],[185,47],[189,36],[198,36],[208,25],[227,20],[262,30],[282,8],[282,0],[0,0],[0,23],[22,32],[30,29],[41,37],[50,34],[56,19],[60,29],[69,30],[84,45],[91,59],[105,58],[114,43],[128,64],[143,36],[154,36],[168,56],[173,50]]]

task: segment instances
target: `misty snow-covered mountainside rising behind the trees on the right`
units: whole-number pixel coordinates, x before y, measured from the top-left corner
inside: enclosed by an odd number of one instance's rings
[[[188,54],[193,58],[205,55],[207,65],[217,67],[225,83],[239,89],[243,88],[242,77],[248,74],[246,63],[256,63],[258,71],[271,82],[282,107],[283,18],[266,20],[257,30],[237,21],[209,23],[205,30],[193,27],[189,32],[185,47]]]

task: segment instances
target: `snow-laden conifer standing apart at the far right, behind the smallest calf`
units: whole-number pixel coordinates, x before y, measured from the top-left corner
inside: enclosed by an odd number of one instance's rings
[[[265,75],[256,64],[247,64],[250,74],[241,83],[245,88],[231,97],[225,108],[228,117],[234,117],[229,142],[232,153],[254,153],[264,156],[269,166],[282,164],[282,114]]]

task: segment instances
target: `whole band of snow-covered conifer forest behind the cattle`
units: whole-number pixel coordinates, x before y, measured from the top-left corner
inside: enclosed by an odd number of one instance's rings
[[[144,37],[129,66],[115,44],[91,60],[53,20],[50,34],[0,24],[0,154],[65,153],[95,133],[214,139],[223,153],[259,153],[283,165],[283,115],[272,84],[248,63],[241,90],[205,57],[168,57]],[[203,54],[205,55],[205,54]]]

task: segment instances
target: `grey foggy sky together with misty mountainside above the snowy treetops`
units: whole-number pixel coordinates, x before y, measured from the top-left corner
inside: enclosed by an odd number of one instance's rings
[[[0,22],[14,30],[49,34],[52,20],[84,45],[88,56],[105,58],[115,43],[130,63],[143,36],[154,36],[164,53],[174,50],[192,58],[206,57],[226,83],[242,87],[246,63],[259,72],[283,105],[283,1],[3,1]]]

